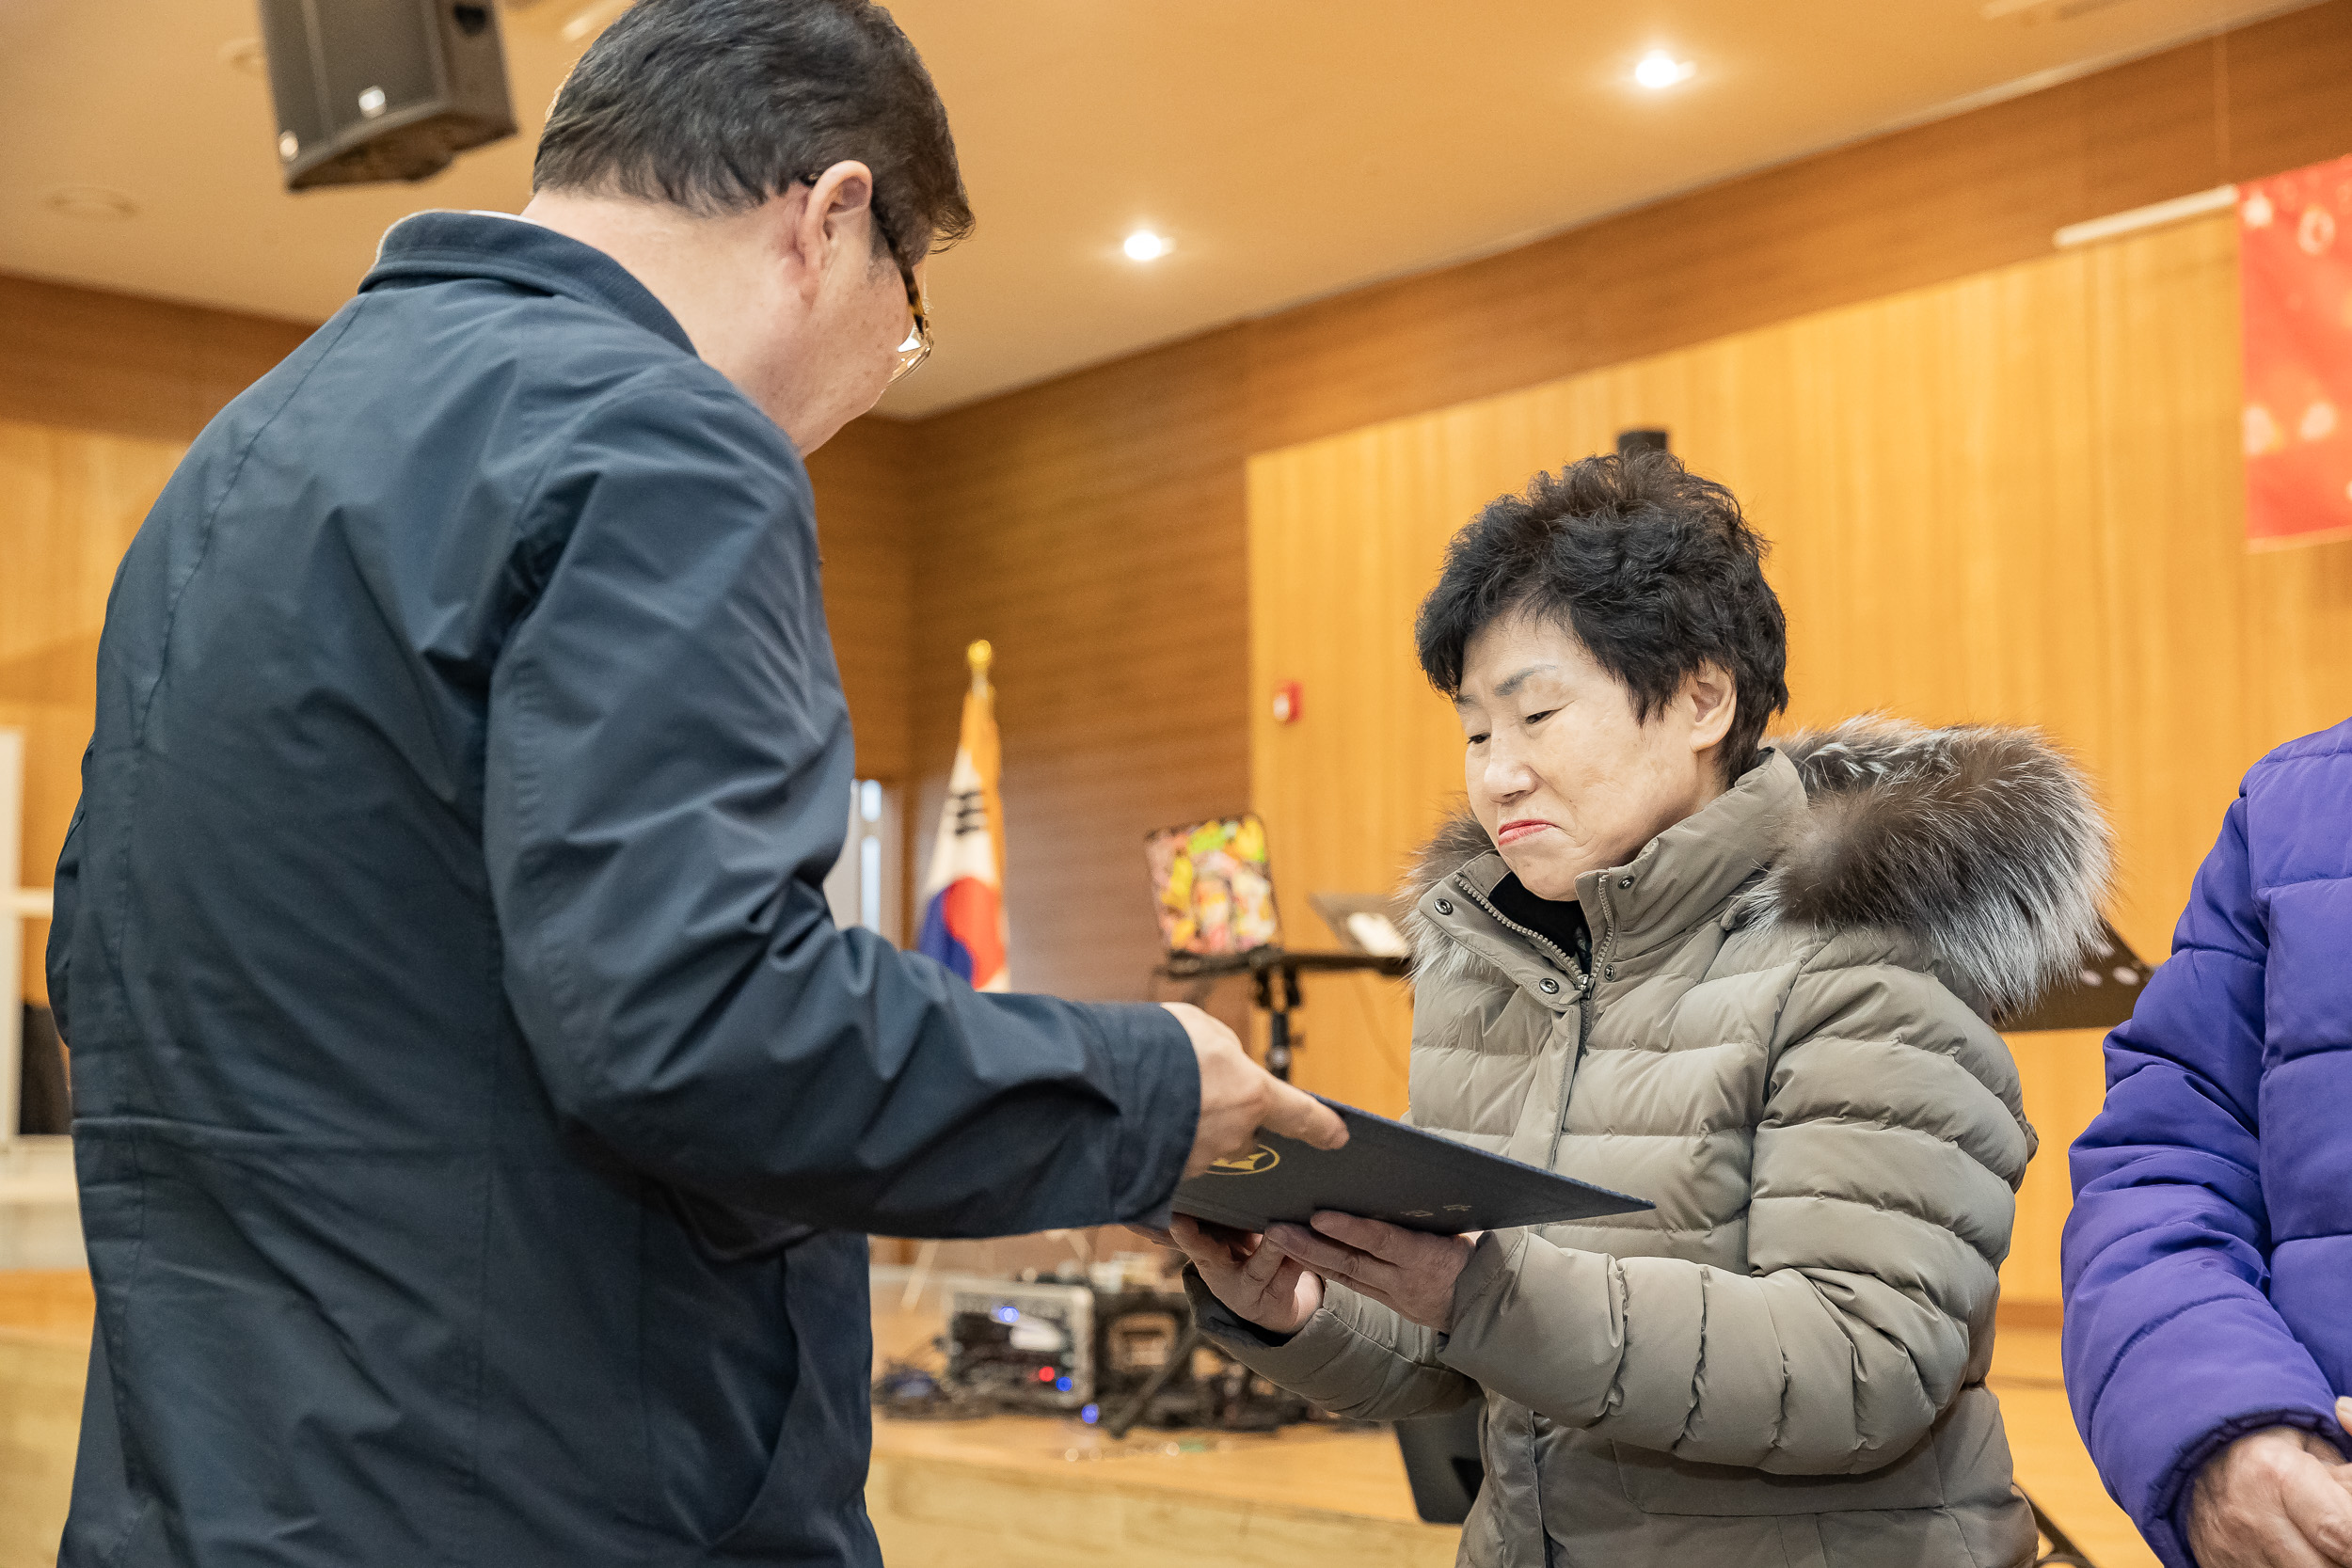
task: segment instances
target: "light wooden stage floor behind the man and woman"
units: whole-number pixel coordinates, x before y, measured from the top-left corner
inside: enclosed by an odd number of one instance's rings
[[[936,1324],[931,1309],[877,1312],[877,1349],[903,1354]],[[0,1568],[56,1561],[87,1349],[87,1276],[0,1272]],[[1992,1387],[2018,1481],[2098,1568],[2152,1568],[2074,1436],[2058,1333],[2002,1328]],[[1454,1561],[1454,1530],[1414,1519],[1385,1432],[1136,1432],[1112,1443],[1075,1420],[877,1420],[866,1497],[884,1556],[922,1568],[1296,1568],[1334,1552],[1327,1561],[1362,1568]]]

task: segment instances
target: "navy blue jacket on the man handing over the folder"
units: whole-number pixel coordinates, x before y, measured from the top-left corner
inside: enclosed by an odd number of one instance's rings
[[[1157,1220],[1200,1079],[835,929],[849,776],[790,442],[609,256],[400,223],[108,602],[61,1561],[877,1561],[858,1232]]]

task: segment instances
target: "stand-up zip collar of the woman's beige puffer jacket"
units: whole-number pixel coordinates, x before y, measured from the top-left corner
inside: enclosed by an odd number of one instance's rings
[[[1595,961],[1637,959],[1722,917],[1733,893],[1766,870],[1788,818],[1802,811],[1797,766],[1769,750],[1724,795],[1653,837],[1632,860],[1578,877],[1576,900],[1592,926]],[[1423,891],[1414,924],[1425,922],[1512,983],[1564,1004],[1583,976],[1494,917],[1489,898],[1508,870],[1494,849],[1472,856]]]

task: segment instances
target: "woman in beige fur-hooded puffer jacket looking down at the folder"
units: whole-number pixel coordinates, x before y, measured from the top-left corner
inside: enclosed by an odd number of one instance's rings
[[[1585,458],[1421,607],[1470,799],[1416,877],[1411,1117],[1656,1208],[1178,1222],[1265,1378],[1362,1418],[1484,1399],[1463,1563],[2032,1559],[1985,1368],[2034,1133],[1990,1018],[2074,966],[2105,827],[2032,733],[1762,748],[1762,552],[1675,458]]]

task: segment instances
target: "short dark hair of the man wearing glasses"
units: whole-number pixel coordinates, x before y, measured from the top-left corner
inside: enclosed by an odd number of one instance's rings
[[[906,266],[971,233],[948,108],[868,0],[637,0],[588,45],[539,136],[532,190],[746,212],[856,158]]]

